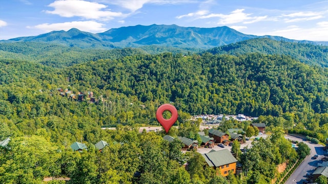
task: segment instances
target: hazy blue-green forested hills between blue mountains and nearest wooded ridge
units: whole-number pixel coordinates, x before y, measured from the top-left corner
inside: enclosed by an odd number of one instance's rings
[[[43,42],[12,42],[0,43],[0,58],[18,59],[40,62],[54,67],[96,61],[98,59],[117,59],[136,54],[159,54],[171,52],[190,55],[193,53],[210,52],[212,54],[240,55],[246,53],[262,53],[288,55],[310,65],[328,66],[328,47],[310,43],[275,41],[269,38],[255,38],[228,45],[222,45],[210,50],[196,48],[173,48],[146,45],[139,48],[125,49],[81,49],[54,43]]]

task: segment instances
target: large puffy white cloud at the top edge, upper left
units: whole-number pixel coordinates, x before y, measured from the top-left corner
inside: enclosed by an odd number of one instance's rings
[[[111,20],[114,17],[126,16],[121,12],[112,12],[109,9],[105,9],[107,8],[106,5],[82,0],[57,0],[48,6],[53,7],[54,10],[47,10],[46,13],[56,14],[62,17],[79,16],[87,19]]]

